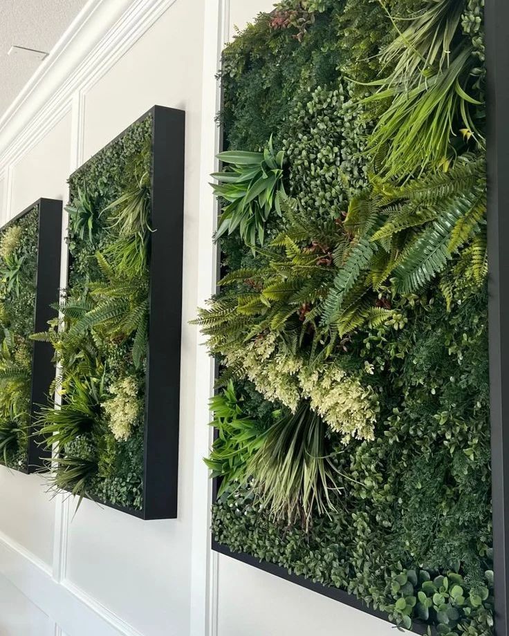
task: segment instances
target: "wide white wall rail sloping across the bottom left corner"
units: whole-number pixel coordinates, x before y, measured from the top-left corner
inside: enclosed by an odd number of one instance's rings
[[[55,634],[142,636],[138,630],[51,569],[10,537],[0,533],[0,574],[55,621]]]

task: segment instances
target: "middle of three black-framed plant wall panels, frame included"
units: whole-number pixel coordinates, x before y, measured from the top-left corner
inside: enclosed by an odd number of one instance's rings
[[[183,111],[155,106],[69,180],[66,297],[50,330],[52,485],[141,518],[177,512]]]

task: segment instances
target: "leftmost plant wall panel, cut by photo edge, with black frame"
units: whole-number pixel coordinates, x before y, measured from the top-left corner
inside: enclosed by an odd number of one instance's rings
[[[41,405],[55,379],[50,346],[30,336],[56,315],[62,201],[41,198],[0,230],[0,463],[32,473]]]

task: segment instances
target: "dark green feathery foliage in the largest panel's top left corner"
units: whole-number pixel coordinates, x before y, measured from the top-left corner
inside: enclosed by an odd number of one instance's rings
[[[317,15],[302,41],[298,34],[298,26],[277,28],[270,15],[262,14],[223,53],[221,119],[231,149],[256,150],[270,135],[279,147],[295,104],[307,101],[317,86],[335,88],[336,21]]]

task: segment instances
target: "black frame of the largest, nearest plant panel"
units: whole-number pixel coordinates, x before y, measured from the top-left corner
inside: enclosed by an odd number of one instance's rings
[[[492,445],[492,505],[494,547],[495,636],[509,636],[509,330],[504,333],[503,317],[509,316],[509,1],[486,0],[485,40],[488,69],[488,252],[490,330],[490,414]],[[507,204],[506,204],[507,205]],[[505,416],[505,423],[504,423]],[[212,501],[216,502],[218,478],[214,479]],[[259,561],[244,552],[211,538],[212,550],[252,565],[280,579],[317,592],[387,621],[387,613],[367,606],[354,595],[315,583],[286,568]],[[427,633],[427,625],[414,622],[412,632]]]

